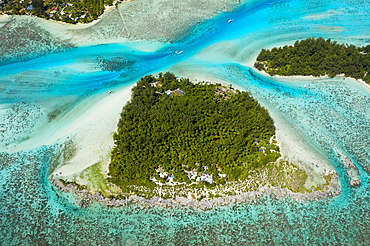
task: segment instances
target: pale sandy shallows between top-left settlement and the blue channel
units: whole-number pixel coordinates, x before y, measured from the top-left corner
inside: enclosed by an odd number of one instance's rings
[[[163,9],[160,15],[158,15],[159,6]],[[88,24],[68,24],[30,15],[13,15],[12,19],[16,20],[15,24],[27,27],[30,26],[28,22],[34,22],[32,27],[41,28],[53,39],[76,47],[148,41],[165,44],[182,39],[198,23],[210,20],[221,13],[233,11],[238,6],[231,0],[201,3],[191,0],[173,4],[168,4],[168,0],[161,0],[158,3],[136,0],[124,1],[118,8],[107,9],[98,21]],[[170,11],[173,8],[183,9],[188,14],[183,18],[177,18],[178,15]],[[205,11],[199,12],[198,8]],[[170,18],[163,18],[162,12],[171,13]]]

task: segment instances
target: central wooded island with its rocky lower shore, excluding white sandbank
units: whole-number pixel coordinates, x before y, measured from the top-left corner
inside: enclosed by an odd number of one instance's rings
[[[108,171],[97,163],[79,178],[55,173],[50,182],[82,196],[83,208],[96,200],[209,209],[256,202],[264,193],[299,200],[340,193],[335,172],[320,174],[324,182],[313,186],[312,174],[284,160],[268,111],[231,85],[169,72],[145,76],[132,88],[113,139]],[[64,152],[73,149],[71,141]]]

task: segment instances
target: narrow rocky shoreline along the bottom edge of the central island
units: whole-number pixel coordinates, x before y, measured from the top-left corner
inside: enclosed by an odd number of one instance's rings
[[[311,200],[311,201],[318,201],[319,199],[325,199],[325,198],[333,198],[340,194],[340,187],[338,184],[338,178],[333,175],[332,180],[328,186],[325,187],[325,189],[320,191],[312,191],[312,192],[305,192],[305,193],[297,193],[292,192],[287,188],[280,188],[280,187],[267,187],[260,186],[259,191],[252,191],[252,192],[241,192],[238,195],[232,195],[232,196],[224,196],[224,197],[216,197],[216,198],[209,198],[206,197],[202,199],[201,201],[195,200],[195,199],[188,199],[185,197],[176,197],[176,199],[162,199],[160,197],[154,196],[151,199],[145,199],[136,195],[130,195],[129,197],[125,199],[109,199],[101,195],[99,192],[95,194],[90,194],[88,190],[82,189],[80,190],[77,185],[73,184],[66,184],[59,179],[50,179],[50,182],[60,191],[63,192],[72,192],[78,196],[82,196],[83,199],[80,202],[80,207],[86,208],[88,203],[92,200],[103,202],[107,206],[127,206],[130,203],[139,204],[146,207],[154,207],[154,206],[160,206],[160,207],[172,207],[172,208],[178,208],[181,206],[189,206],[194,208],[200,208],[202,210],[208,210],[215,208],[217,209],[218,206],[226,206],[230,203],[242,203],[242,202],[249,202],[257,203],[258,198],[262,197],[263,194],[267,194],[271,197],[276,198],[283,198],[286,196],[290,196],[293,199],[297,199],[298,201],[301,201],[305,203],[305,200]]]

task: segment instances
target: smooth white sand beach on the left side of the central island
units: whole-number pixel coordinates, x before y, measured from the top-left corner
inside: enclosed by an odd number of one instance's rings
[[[103,169],[107,170],[113,148],[112,136],[117,130],[122,108],[130,97],[131,86],[122,86],[112,89],[111,93],[108,91],[101,93],[98,99],[87,102],[86,105],[81,106],[81,109],[74,110],[75,117],[79,116],[69,125],[63,125],[50,141],[68,135],[75,143],[77,151],[71,160],[64,163],[53,174],[59,174],[59,177],[68,179],[98,162],[101,162]],[[75,117],[71,116],[71,118]]]

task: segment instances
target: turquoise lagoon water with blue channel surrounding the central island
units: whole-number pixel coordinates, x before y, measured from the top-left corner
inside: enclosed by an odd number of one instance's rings
[[[369,12],[365,1],[252,1],[153,52],[141,51],[140,43],[103,44],[2,65],[0,112],[15,113],[0,122],[1,244],[369,244],[370,187],[364,167],[370,166],[370,90],[350,79],[285,80],[251,68],[261,48],[307,37],[368,45]],[[67,114],[82,100],[167,70],[250,91],[302,144],[331,164],[339,175],[341,195],[306,203],[266,196],[257,204],[210,211],[108,208],[98,203],[81,209],[76,198],[48,181],[65,136],[31,149],[21,145],[43,130],[33,128],[45,121],[47,112],[61,108]],[[23,112],[24,107],[29,111]],[[49,119],[42,127],[47,130],[53,124]],[[348,184],[345,157],[359,169],[358,187]]]

